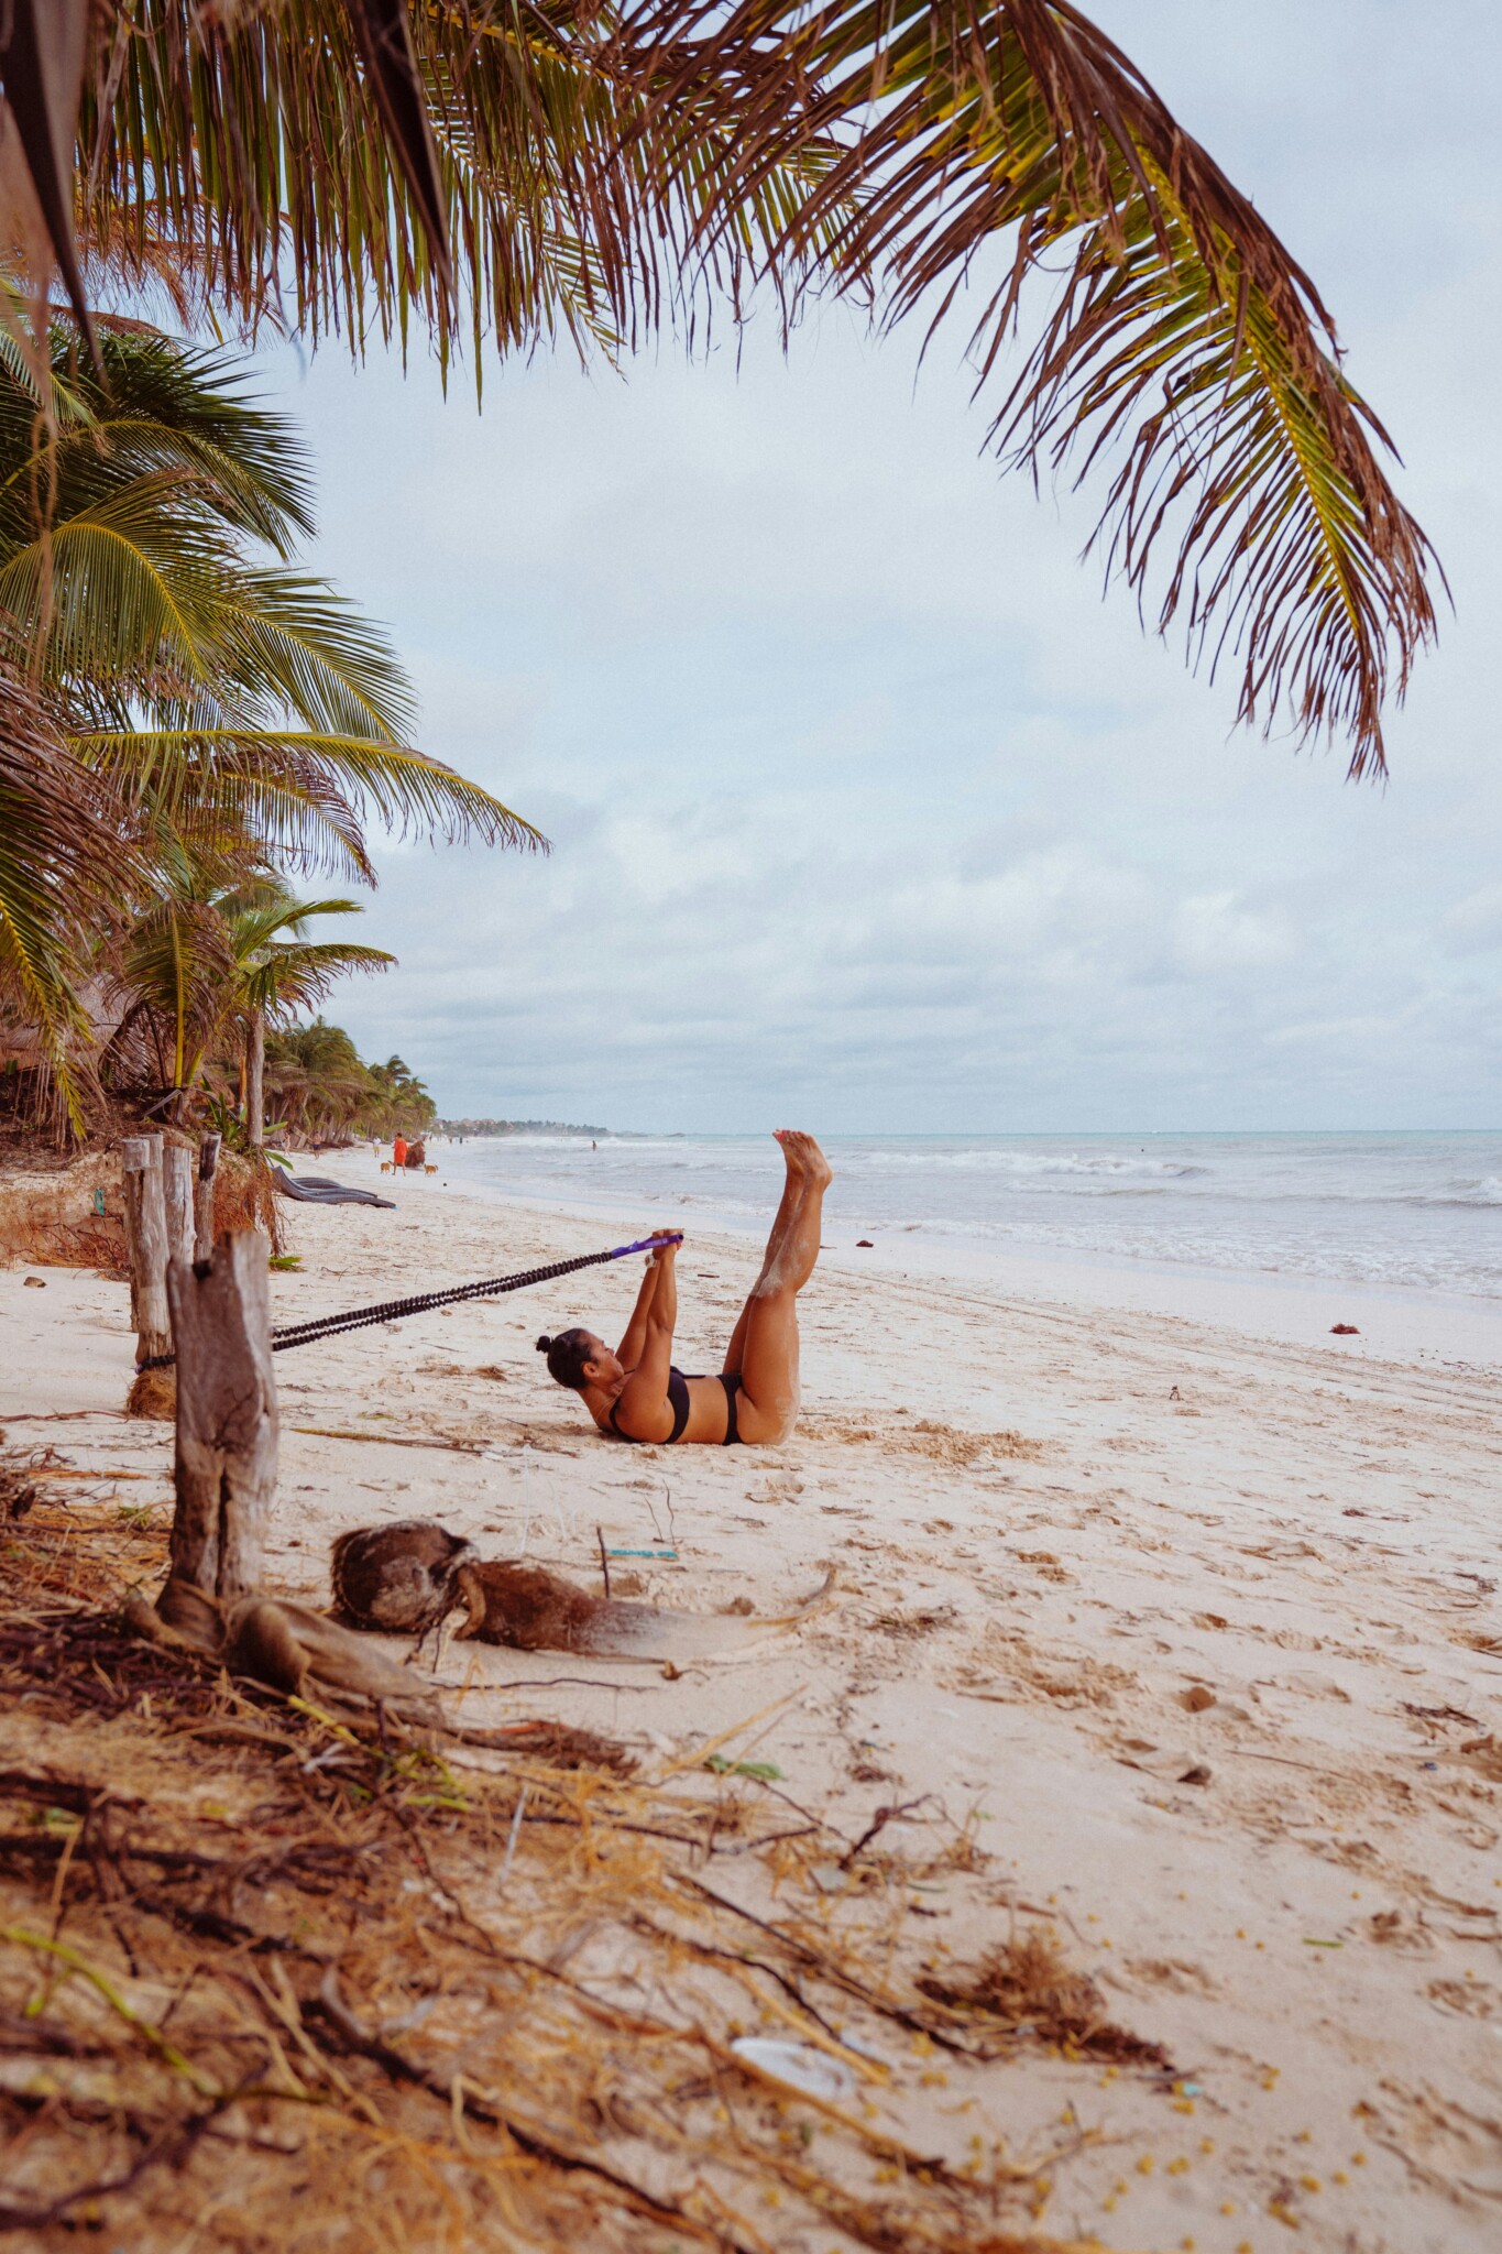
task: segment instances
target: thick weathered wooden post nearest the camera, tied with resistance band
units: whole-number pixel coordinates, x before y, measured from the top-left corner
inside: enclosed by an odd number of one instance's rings
[[[178,1348],[171,1571],[221,1600],[259,1587],[277,1492],[268,1274],[254,1228],[218,1237],[198,1267],[167,1269]]]

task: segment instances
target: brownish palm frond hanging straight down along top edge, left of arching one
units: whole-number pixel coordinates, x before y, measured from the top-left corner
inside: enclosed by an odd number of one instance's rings
[[[716,230],[739,128],[718,81],[685,97],[698,133],[664,167],[649,92],[604,68],[599,11],[572,0],[115,0],[110,18],[79,122],[86,239],[126,268],[153,232],[191,243],[214,304],[252,327],[275,309],[363,347],[417,320],[444,356],[486,331],[615,345],[682,307],[712,237],[734,298],[822,162],[799,137]]]

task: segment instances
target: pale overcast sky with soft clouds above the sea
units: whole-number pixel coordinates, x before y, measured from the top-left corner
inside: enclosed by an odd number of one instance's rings
[[[448,1113],[617,1127],[1493,1127],[1502,11],[1097,0],[1311,268],[1455,595],[1392,782],[1232,733],[980,453],[959,331],[768,318],[624,379],[263,356],[318,568],[547,861],[383,848],[338,992]],[[1416,25],[1421,23],[1421,36]]]

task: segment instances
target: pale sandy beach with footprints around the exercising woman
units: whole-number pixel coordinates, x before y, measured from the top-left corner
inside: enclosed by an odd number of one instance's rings
[[[336,1172],[376,1179],[360,1154]],[[304,1274],[275,1278],[277,1321],[608,1242],[599,1215],[441,1177],[396,1197],[290,1210]],[[685,1244],[685,1368],[718,1366],[752,1274],[745,1240]],[[1502,1316],[1007,1274],[833,1251],[779,1449],[613,1447],[547,1384],[534,1337],[622,1323],[635,1262],[277,1357],[268,1578],[327,1603],[331,1539],[414,1515],[594,1591],[599,1535],[671,1546],[617,1560],[617,1594],[705,1614],[784,1614],[833,1569],[806,1623],[678,1679],[464,1643],[441,1677],[486,1715],[669,1756],[775,1709],[732,1740],[777,1765],[768,1790],[849,1839],[912,1803],[894,1844],[968,1842],[914,1884],[905,1956],[941,1977],[1043,1923],[1175,2067],[898,2062],[883,2107],[955,2155],[1079,2126],[1036,2209],[1058,2236],[1482,2254],[1502,2231]],[[14,1267],[0,1307],[11,1443],[50,1440],[106,1494],[131,1474],[119,1497],[164,1517],[171,1429],[119,1416],[124,1285]]]

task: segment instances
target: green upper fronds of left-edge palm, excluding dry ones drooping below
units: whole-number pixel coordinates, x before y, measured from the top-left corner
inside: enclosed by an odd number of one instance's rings
[[[288,421],[221,354],[155,334],[106,336],[101,374],[74,361],[54,331],[50,419],[29,370],[0,365],[0,611],[79,760],[158,818],[236,818],[268,850],[365,881],[369,807],[540,843],[410,748],[412,690],[385,633],[288,568],[313,532]]]

